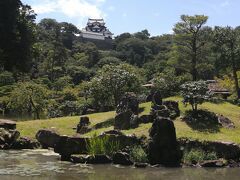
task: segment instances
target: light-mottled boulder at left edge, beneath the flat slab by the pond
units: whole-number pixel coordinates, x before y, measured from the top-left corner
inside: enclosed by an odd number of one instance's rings
[[[0,128],[0,149],[10,149],[19,136],[20,132],[16,130]]]

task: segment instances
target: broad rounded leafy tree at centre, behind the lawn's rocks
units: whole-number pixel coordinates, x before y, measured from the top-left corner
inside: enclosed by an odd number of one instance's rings
[[[116,106],[125,92],[138,92],[140,79],[127,64],[105,65],[88,85],[90,96],[101,106]]]

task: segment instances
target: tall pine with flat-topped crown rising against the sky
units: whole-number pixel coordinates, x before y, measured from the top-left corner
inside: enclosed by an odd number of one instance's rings
[[[181,22],[177,23],[173,29],[178,51],[185,54],[184,58],[190,60],[190,71],[194,81],[197,80],[199,56],[207,42],[207,33],[204,31],[207,20],[208,17],[204,15],[182,15]]]

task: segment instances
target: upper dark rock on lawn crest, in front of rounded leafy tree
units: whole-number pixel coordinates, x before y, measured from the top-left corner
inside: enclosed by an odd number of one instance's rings
[[[132,111],[132,113],[135,115],[138,114],[139,101],[134,93],[125,93],[117,105],[116,113],[120,114],[128,110]]]

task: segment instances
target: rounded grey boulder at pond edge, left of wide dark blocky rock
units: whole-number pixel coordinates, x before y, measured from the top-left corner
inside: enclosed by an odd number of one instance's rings
[[[36,139],[43,148],[54,148],[60,140],[60,135],[54,130],[41,129],[37,132]]]

